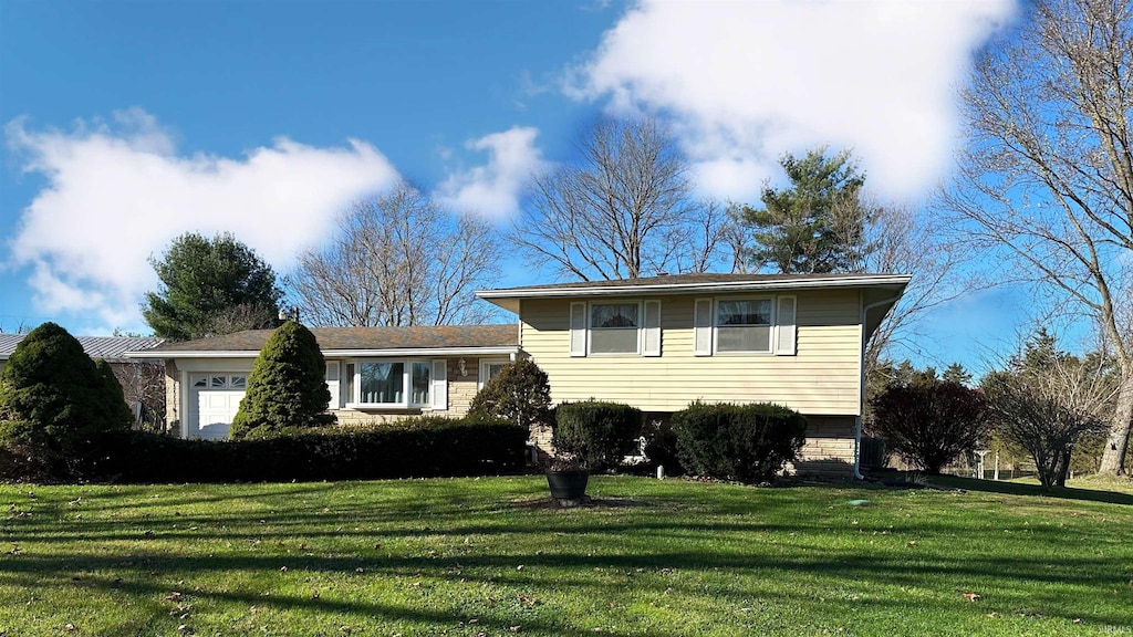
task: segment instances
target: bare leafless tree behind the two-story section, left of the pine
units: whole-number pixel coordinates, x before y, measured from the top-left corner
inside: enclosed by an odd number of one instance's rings
[[[535,179],[512,229],[539,265],[589,281],[714,264],[726,212],[695,197],[685,160],[656,121],[599,122],[578,152]]]

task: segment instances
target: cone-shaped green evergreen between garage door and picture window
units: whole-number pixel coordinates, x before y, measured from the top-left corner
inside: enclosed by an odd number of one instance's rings
[[[229,430],[232,438],[256,438],[295,427],[330,425],[326,362],[310,330],[295,321],[280,325],[259,350],[248,389]]]

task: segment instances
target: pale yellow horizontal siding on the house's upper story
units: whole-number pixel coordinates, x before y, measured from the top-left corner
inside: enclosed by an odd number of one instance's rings
[[[661,299],[661,357],[570,356],[570,303],[523,299],[521,347],[546,371],[555,402],[615,400],[646,411],[689,402],[770,401],[803,414],[857,415],[860,297],[857,290],[792,292],[798,297],[798,354],[695,356],[695,296]],[[744,298],[725,295],[716,298]],[[625,300],[644,300],[627,297]],[[603,298],[603,301],[615,299]]]

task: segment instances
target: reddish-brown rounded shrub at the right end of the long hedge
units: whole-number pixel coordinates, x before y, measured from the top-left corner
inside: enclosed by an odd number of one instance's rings
[[[500,418],[525,427],[550,424],[551,385],[547,373],[527,358],[505,365],[472,398],[469,414]]]

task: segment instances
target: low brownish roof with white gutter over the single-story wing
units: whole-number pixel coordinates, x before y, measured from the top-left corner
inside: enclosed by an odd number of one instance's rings
[[[325,356],[475,355],[519,351],[519,328],[506,325],[435,325],[414,328],[310,328]],[[210,358],[256,356],[272,330],[165,343],[139,358]]]

